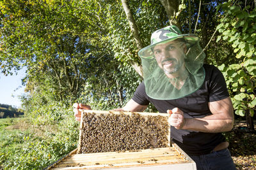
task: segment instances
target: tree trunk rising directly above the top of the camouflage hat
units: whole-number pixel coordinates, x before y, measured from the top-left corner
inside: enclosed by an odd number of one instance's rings
[[[176,13],[179,10],[179,1],[177,0],[160,0],[166,10],[170,25],[176,25],[180,28]]]

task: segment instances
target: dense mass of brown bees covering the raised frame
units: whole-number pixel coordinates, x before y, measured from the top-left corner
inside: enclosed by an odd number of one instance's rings
[[[124,152],[168,146],[168,121],[138,113],[84,113],[78,153]]]

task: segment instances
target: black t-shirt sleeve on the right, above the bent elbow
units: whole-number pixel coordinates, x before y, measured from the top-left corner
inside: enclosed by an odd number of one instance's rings
[[[229,96],[227,84],[221,71],[212,66],[211,81],[209,85],[209,101],[220,101]]]

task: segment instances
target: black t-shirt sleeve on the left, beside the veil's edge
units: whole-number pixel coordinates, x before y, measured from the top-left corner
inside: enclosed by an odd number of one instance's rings
[[[140,83],[140,85],[137,87],[132,97],[132,100],[143,106],[147,106],[149,104],[148,97],[145,91],[145,85],[143,82]]]

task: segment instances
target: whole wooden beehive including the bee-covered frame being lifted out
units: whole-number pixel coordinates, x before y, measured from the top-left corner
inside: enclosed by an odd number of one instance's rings
[[[81,111],[78,148],[47,169],[196,169],[170,146],[166,113]]]

